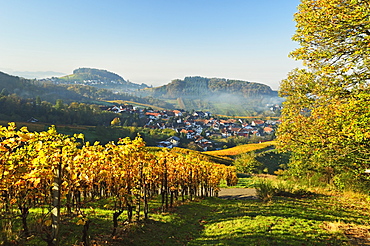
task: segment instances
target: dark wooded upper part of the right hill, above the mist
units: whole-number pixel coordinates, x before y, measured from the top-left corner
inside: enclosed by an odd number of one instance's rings
[[[141,92],[143,95],[161,98],[201,98],[221,94],[241,97],[277,96],[276,91],[261,83],[199,76],[185,77],[183,80],[176,79],[167,85],[147,88]]]

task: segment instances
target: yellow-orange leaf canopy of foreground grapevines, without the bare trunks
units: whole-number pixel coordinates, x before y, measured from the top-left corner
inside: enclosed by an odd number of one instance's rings
[[[15,124],[0,128],[0,193],[2,202],[38,199],[50,201],[54,171],[62,168],[62,198],[84,192],[109,195],[128,202],[140,195],[143,187],[184,191],[201,186],[217,190],[221,179],[235,182],[232,167],[216,165],[189,156],[160,151],[145,151],[142,138],[120,139],[106,145],[81,144],[75,137],[58,134],[55,127],[46,132],[16,130]],[[83,138],[82,135],[76,137]],[[140,196],[137,196],[139,199]]]

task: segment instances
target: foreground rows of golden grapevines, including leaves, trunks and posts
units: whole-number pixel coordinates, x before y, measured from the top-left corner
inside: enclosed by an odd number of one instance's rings
[[[114,235],[124,212],[128,224],[147,219],[153,197],[168,211],[176,200],[217,194],[221,180],[237,182],[234,167],[195,154],[150,151],[140,137],[90,144],[82,134],[67,136],[54,127],[29,132],[9,123],[0,127],[0,140],[0,244],[39,238],[59,245],[61,222],[75,217],[83,226],[81,243],[89,245],[84,208],[92,204],[112,212]],[[36,230],[29,215],[37,209]]]

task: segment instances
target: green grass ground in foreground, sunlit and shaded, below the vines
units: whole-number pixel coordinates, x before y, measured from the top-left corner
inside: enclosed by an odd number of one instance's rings
[[[253,187],[256,180],[241,181],[239,187]],[[153,200],[149,220],[127,224],[123,214],[113,237],[109,207],[94,209],[90,204],[83,212],[91,221],[91,245],[95,246],[370,245],[369,197],[312,192],[306,198],[276,196],[268,203],[204,198],[178,203],[166,213],[157,209],[159,199]],[[39,223],[39,212],[30,214],[34,222]],[[61,245],[82,245],[80,219],[64,217]],[[46,243],[31,237],[21,245]]]

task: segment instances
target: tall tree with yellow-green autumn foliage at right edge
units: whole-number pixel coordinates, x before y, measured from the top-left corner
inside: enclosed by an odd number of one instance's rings
[[[302,0],[291,57],[303,61],[282,81],[280,148],[290,172],[319,174],[342,188],[370,168],[370,2]]]

